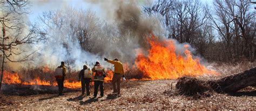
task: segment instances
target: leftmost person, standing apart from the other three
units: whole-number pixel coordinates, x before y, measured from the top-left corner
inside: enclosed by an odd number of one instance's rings
[[[64,88],[64,79],[66,76],[66,66],[64,62],[61,62],[61,65],[58,66],[58,68],[62,68],[62,76],[56,77],[57,83],[58,83],[58,88],[59,88],[59,95],[64,95],[63,88]]]

